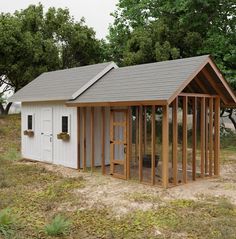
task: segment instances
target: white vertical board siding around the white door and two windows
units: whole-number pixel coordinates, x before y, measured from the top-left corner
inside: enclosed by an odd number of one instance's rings
[[[77,108],[66,107],[61,103],[23,103],[22,104],[22,156],[24,158],[44,161],[41,156],[41,110],[51,107],[53,114],[53,164],[77,168]],[[34,137],[23,135],[27,129],[27,115],[34,115]],[[58,140],[57,134],[61,132],[61,117],[69,116],[68,142]]]

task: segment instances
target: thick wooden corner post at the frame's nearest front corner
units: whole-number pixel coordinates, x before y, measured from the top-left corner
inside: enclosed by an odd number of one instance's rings
[[[162,185],[168,188],[168,170],[169,170],[169,106],[164,105],[162,117]]]

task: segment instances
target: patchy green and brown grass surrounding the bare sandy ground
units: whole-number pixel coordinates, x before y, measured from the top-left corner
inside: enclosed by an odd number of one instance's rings
[[[140,209],[124,215],[102,202],[86,207],[89,199],[78,193],[85,179],[18,160],[20,118],[0,118],[0,124],[0,238],[235,238],[235,205],[224,197],[168,201],[137,191],[126,200]],[[225,163],[233,151],[223,150]],[[142,210],[145,203],[152,207]]]

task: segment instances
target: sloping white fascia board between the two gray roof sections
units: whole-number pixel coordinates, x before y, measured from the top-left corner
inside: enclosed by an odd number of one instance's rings
[[[103,77],[107,72],[111,69],[117,69],[118,66],[112,62],[106,68],[104,68],[101,72],[99,72],[96,76],[94,76],[90,81],[88,81],[85,85],[83,85],[79,90],[77,90],[72,95],[72,100],[75,100],[78,96],[80,96],[84,91],[86,91],[91,85],[97,82],[101,77]]]

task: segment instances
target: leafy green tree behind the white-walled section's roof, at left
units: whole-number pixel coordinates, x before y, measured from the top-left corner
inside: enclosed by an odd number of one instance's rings
[[[0,15],[0,95],[18,91],[42,72],[102,61],[101,43],[68,9],[30,5]],[[1,87],[2,86],[2,87]],[[0,113],[7,114],[0,102]]]

